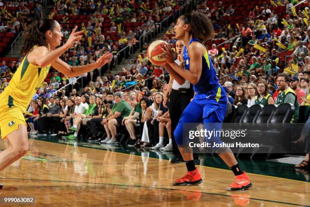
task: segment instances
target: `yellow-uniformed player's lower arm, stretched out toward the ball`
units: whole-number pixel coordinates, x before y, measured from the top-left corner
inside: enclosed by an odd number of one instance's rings
[[[67,77],[75,77],[82,75],[84,73],[88,73],[90,71],[93,71],[94,69],[98,67],[102,67],[106,63],[109,63],[112,59],[112,54],[111,53],[105,53],[102,55],[96,62],[83,65],[83,66],[70,66],[61,59],[57,59],[52,66],[59,71],[60,73],[64,74]]]

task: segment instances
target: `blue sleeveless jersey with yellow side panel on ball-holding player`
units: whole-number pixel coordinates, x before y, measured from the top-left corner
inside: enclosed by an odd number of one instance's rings
[[[189,42],[189,45],[193,42],[199,42],[204,46],[202,42],[200,42],[196,38],[192,38]],[[204,46],[205,47],[205,46]],[[186,46],[184,46],[183,51],[183,65],[186,70],[189,70],[189,57],[188,50]],[[193,89],[196,93],[217,93],[217,89],[219,87],[218,78],[216,77],[216,72],[214,70],[212,60],[208,55],[208,51],[205,47],[205,54],[202,57],[202,73],[199,79],[199,82],[196,85],[193,85]]]

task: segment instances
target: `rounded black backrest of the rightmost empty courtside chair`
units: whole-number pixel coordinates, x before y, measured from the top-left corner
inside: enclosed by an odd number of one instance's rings
[[[291,103],[283,103],[278,106],[272,116],[269,117],[268,123],[290,123],[295,111],[295,106]]]

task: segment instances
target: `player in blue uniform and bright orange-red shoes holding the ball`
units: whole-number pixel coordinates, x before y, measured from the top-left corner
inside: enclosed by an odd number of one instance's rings
[[[193,84],[195,96],[185,108],[179,123],[174,131],[174,136],[179,150],[185,160],[187,174],[176,179],[173,185],[197,185],[202,183],[201,175],[193,162],[192,149],[188,147],[188,138],[183,140],[184,123],[204,123],[205,129],[213,130],[214,123],[221,127],[226,111],[226,92],[219,85],[216,72],[207,49],[201,41],[213,37],[213,26],[210,19],[203,13],[192,12],[178,18],[174,27],[176,38],[183,40],[183,59],[181,66],[174,62],[173,52],[169,46],[162,46],[166,52],[167,64],[165,67],[169,74],[179,84],[185,80]],[[182,66],[183,65],[183,66]],[[212,128],[211,128],[212,127]],[[220,129],[220,128],[219,128]],[[220,144],[219,137],[211,137],[206,142]],[[235,182],[227,187],[227,190],[241,191],[252,186],[249,177],[240,166],[229,148],[213,148],[223,161],[234,172]]]

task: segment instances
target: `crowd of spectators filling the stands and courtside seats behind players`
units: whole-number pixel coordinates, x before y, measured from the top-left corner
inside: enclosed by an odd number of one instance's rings
[[[186,2],[146,1],[139,7],[134,4],[137,1],[82,2],[59,1],[50,13],[51,18],[63,25],[65,38],[74,24],[85,33],[61,58],[70,65],[83,65],[111,52],[114,59],[110,65],[85,74],[83,84],[53,72],[25,115],[29,133],[52,132],[65,139],[115,144],[122,132],[128,133],[129,146],[171,150],[169,102],[167,105],[163,102],[169,74],[164,67],[148,61],[148,44],[142,39],[139,48],[138,41],[148,31],[160,32],[159,22]],[[310,106],[308,4],[296,7],[295,14],[292,7],[296,3],[275,2],[276,6],[260,0],[241,1],[237,5],[230,0],[195,1],[195,8],[212,19],[216,31],[214,39],[205,45],[227,92],[226,117],[234,106],[291,103],[295,106],[292,122],[297,122],[299,107]],[[242,15],[239,11],[243,11]],[[175,51],[173,28],[171,23],[163,40]],[[118,54],[127,46],[125,55]],[[112,75],[113,65],[127,58],[131,50],[138,55],[121,73]],[[8,84],[6,79],[19,64],[20,61],[8,67],[6,62],[2,63],[2,86]],[[74,87],[56,92],[71,82]]]

